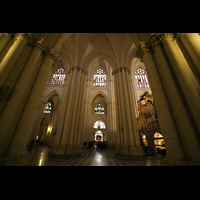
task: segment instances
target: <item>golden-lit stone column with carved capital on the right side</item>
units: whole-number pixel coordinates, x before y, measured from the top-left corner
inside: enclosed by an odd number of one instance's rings
[[[191,69],[170,34],[165,34],[161,39],[161,43],[171,65],[171,71],[176,79],[177,86],[180,88],[181,97],[193,123],[193,128],[198,138],[200,138],[200,97],[191,80]]]

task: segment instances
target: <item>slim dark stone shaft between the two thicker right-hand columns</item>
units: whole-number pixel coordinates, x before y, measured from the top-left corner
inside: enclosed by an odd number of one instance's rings
[[[172,137],[171,141],[173,142],[181,142],[185,149],[185,154],[187,155],[187,159],[191,160],[192,151],[191,145],[188,144],[189,140],[186,138],[190,138],[190,141],[193,141],[193,144],[196,144],[198,148],[198,142],[196,139],[196,134],[194,132],[192,123],[190,121],[190,117],[188,116],[187,109],[182,101],[182,97],[179,93],[179,88],[176,85],[176,81],[172,75],[170,67],[165,58],[164,52],[160,45],[157,45],[154,48],[156,61],[158,63],[159,72],[161,74],[162,80],[165,83],[165,90],[168,95],[169,103],[173,111],[174,119],[176,121],[177,127],[179,129],[179,137]],[[188,128],[190,131],[188,131]],[[178,141],[177,141],[178,139]],[[195,145],[192,146],[194,148]],[[177,151],[177,150],[176,150]],[[177,155],[178,156],[178,155]],[[179,156],[178,156],[179,157]]]

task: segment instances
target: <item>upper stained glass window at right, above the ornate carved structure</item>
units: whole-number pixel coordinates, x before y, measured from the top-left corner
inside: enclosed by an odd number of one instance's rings
[[[149,88],[149,82],[148,82],[148,79],[147,79],[147,73],[141,67],[139,67],[135,71],[135,80],[136,80],[136,85],[137,85],[138,89]]]

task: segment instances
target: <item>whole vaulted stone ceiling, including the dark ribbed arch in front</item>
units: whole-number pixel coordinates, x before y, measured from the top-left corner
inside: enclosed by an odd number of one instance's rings
[[[107,60],[112,69],[130,68],[140,42],[147,43],[150,33],[27,33],[47,51],[59,54],[67,68],[87,71],[93,59]]]

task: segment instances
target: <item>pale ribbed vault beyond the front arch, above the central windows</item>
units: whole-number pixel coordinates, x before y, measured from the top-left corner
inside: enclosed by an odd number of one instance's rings
[[[127,33],[74,33],[65,40],[59,52],[70,67],[85,70],[98,56],[107,60],[113,70],[130,67],[135,54],[136,46]]]

